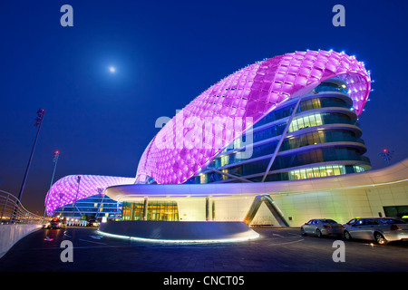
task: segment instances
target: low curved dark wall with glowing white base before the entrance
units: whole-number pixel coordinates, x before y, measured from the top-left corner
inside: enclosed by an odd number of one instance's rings
[[[108,221],[99,227],[102,234],[165,242],[224,242],[257,238],[244,222],[222,221]]]

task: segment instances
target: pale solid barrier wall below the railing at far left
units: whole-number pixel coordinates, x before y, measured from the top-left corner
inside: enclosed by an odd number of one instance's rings
[[[21,238],[43,227],[43,225],[0,225],[0,258]]]

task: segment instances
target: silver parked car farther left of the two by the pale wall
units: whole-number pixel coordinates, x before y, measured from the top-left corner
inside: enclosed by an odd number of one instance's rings
[[[311,234],[317,237],[335,235],[343,236],[343,225],[330,218],[310,219],[300,227],[302,235]]]

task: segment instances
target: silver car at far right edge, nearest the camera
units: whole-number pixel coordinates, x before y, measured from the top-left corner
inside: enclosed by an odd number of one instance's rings
[[[353,218],[345,225],[345,239],[364,239],[379,245],[408,240],[408,224],[397,218]]]

